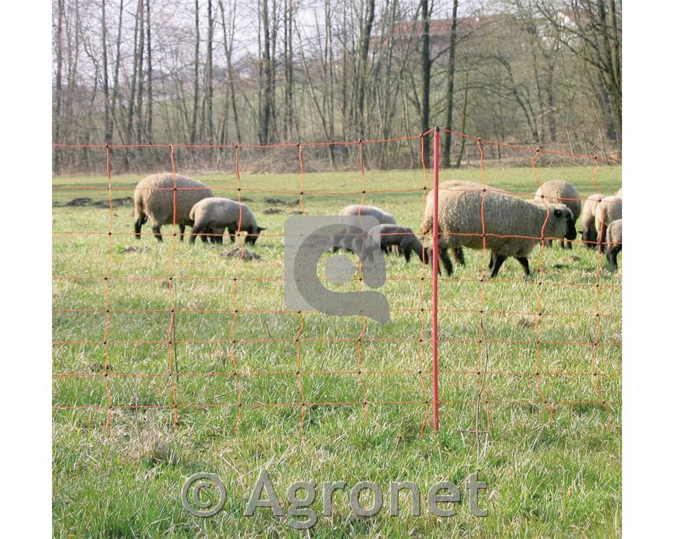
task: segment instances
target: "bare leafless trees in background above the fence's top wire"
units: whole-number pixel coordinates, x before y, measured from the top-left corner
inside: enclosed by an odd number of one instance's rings
[[[616,0],[54,0],[53,140],[270,145],[440,125],[617,156],[621,14]],[[470,159],[464,143],[444,134],[444,166]],[[336,168],[350,150],[315,157]],[[55,149],[54,168],[92,159]],[[416,166],[418,145],[367,159]]]

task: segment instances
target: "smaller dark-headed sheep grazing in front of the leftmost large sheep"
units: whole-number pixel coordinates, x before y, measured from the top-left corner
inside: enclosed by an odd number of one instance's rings
[[[230,237],[238,231],[246,232],[246,244],[255,245],[260,232],[265,230],[258,227],[253,212],[246,204],[218,197],[209,197],[194,204],[190,219],[194,222],[190,244],[194,244],[199,234],[219,233],[227,229]]]

